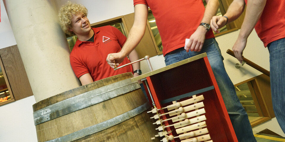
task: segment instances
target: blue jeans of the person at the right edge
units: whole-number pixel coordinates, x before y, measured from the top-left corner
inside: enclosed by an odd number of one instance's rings
[[[273,110],[285,133],[285,38],[269,43],[267,48]]]

